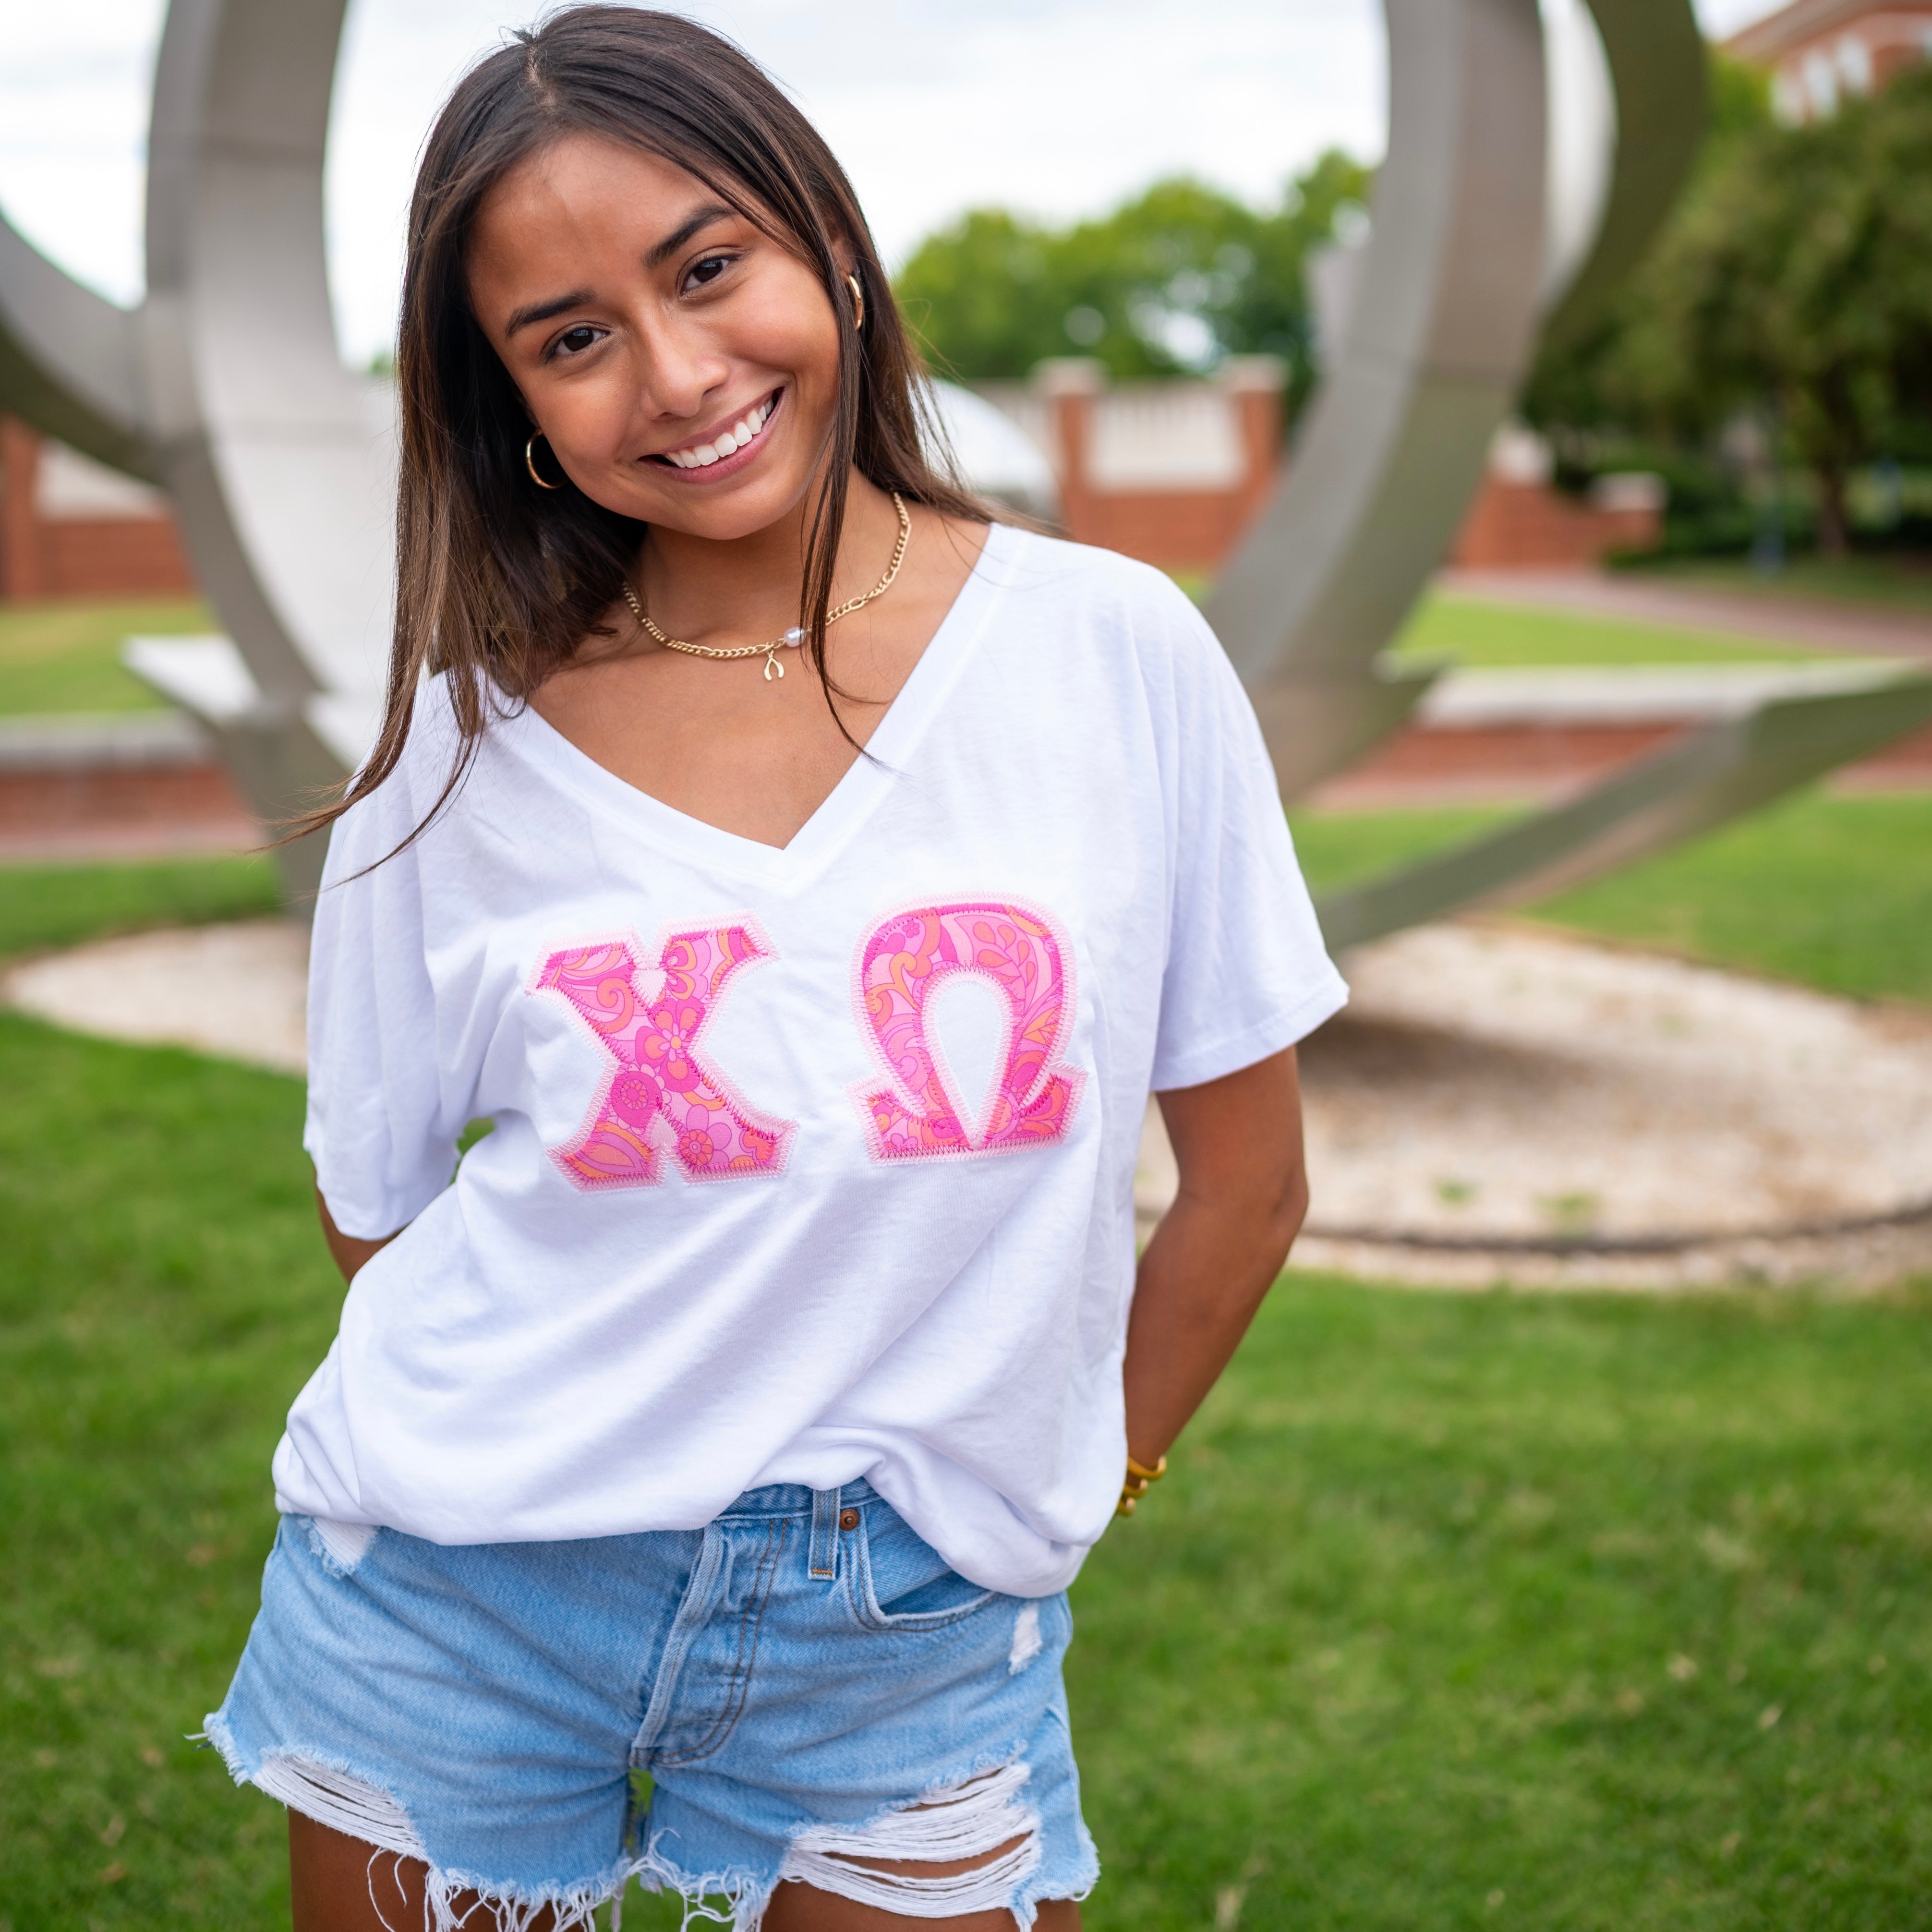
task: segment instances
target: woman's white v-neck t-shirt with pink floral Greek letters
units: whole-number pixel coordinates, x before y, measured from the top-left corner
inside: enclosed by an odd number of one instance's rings
[[[524,709],[363,873],[452,748],[433,688],[328,852],[305,1144],[344,1233],[402,1235],[280,1507],[533,1542],[866,1478],[972,1580],[1063,1588],[1126,1453],[1148,1092],[1347,997],[1213,634],[1153,570],[995,527],[782,850]]]

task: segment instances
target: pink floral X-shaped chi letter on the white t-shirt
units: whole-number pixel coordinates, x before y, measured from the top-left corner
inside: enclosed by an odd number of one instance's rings
[[[553,952],[526,991],[560,993],[616,1065],[583,1132],[551,1159],[580,1188],[647,1188],[668,1151],[692,1180],[744,1180],[784,1167],[794,1121],[750,1107],[705,1065],[699,1036],[730,978],[771,947],[750,922],[667,933],[663,985],[645,991],[643,947],[630,935]]]

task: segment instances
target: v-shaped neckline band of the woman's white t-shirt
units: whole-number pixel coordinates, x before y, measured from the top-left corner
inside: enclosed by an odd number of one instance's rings
[[[680,858],[771,885],[786,879],[800,883],[819,871],[844,846],[893,788],[900,761],[910,757],[920,738],[925,736],[925,728],[958,680],[974,643],[985,630],[993,605],[999,601],[999,580],[1007,572],[999,572],[995,578],[987,566],[1003,562],[1010,547],[1022,541],[1024,531],[1012,526],[993,524],[987,529],[985,543],[980,547],[966,582],[958,587],[925,649],[920,651],[906,682],[885,707],[885,717],[873,726],[866,750],[852,759],[838,782],[819,800],[811,817],[782,846],[724,831],[723,825],[680,811],[628,779],[620,779],[609,765],[599,765],[589,752],[572,744],[533,705],[524,705],[493,730],[500,728],[516,752],[558,784],[580,794],[597,811],[622,813],[653,844],[665,846]]]

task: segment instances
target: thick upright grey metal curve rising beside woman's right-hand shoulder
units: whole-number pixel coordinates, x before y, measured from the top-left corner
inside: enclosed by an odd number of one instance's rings
[[[1381,674],[1463,520],[1536,342],[1536,0],[1387,0],[1389,155],[1337,367],[1208,620],[1289,798],[1399,726],[1435,672]]]

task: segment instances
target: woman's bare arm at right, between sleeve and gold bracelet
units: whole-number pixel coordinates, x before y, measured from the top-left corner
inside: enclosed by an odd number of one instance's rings
[[[1153,1468],[1227,1368],[1308,1213],[1294,1049],[1157,1095],[1180,1192],[1140,1258],[1126,1447]]]

